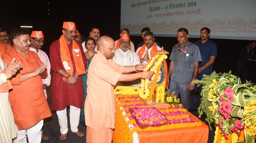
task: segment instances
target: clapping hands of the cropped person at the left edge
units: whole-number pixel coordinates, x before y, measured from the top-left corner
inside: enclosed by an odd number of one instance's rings
[[[17,61],[15,62],[15,58],[13,58],[8,66],[7,63],[5,63],[3,73],[6,75],[7,79],[10,79],[17,73],[18,70],[20,70],[21,66],[22,64]]]

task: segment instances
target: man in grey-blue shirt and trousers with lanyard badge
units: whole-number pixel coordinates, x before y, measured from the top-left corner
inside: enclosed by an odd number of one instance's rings
[[[195,88],[193,80],[197,78],[199,62],[202,60],[197,45],[189,42],[186,28],[180,28],[177,33],[178,44],[173,46],[168,69],[167,83],[170,92],[180,93],[182,106],[189,110],[189,94]]]

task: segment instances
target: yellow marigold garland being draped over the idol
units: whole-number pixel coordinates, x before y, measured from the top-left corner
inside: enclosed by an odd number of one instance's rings
[[[155,61],[155,59],[157,59],[157,62],[156,64],[152,67],[153,65],[153,62]],[[150,71],[155,71],[156,70],[156,75],[153,79],[153,83],[151,83],[151,89],[149,89],[148,87],[148,83],[149,83],[149,79],[141,79],[141,85],[144,87],[141,87],[140,88],[140,92],[139,92],[139,96],[142,98],[142,99],[145,99],[145,100],[152,100],[152,96],[154,94],[154,90],[155,90],[155,87],[156,87],[156,80],[158,78],[158,72],[161,68],[161,64],[162,64],[162,61],[164,59],[167,59],[167,55],[163,55],[163,54],[157,54],[150,62],[149,64],[147,65],[146,68],[144,68],[143,71],[148,71],[150,68]]]

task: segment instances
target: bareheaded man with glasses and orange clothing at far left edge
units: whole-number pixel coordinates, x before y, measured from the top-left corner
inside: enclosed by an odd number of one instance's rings
[[[10,51],[12,47],[10,36],[6,28],[0,28],[0,56],[2,56],[4,52]]]

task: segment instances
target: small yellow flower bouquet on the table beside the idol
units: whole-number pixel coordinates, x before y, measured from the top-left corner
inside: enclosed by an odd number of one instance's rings
[[[164,101],[171,106],[182,107],[182,104],[180,104],[180,99],[176,99],[174,94],[175,92],[170,93],[170,89],[167,88],[165,91]]]

